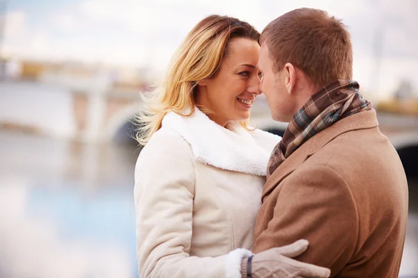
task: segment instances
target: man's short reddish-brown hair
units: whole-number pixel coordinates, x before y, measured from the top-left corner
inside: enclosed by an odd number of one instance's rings
[[[353,78],[350,33],[341,19],[323,10],[300,8],[281,15],[264,28],[260,43],[267,44],[275,72],[291,63],[319,86]]]

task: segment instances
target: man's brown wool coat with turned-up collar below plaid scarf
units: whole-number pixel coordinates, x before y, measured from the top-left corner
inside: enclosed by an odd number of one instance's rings
[[[332,277],[398,277],[408,185],[373,109],[305,142],[268,179],[262,200],[253,252],[306,238],[297,259]]]

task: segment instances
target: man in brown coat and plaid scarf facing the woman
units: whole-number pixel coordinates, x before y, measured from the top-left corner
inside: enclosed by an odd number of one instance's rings
[[[331,277],[398,277],[407,181],[376,111],[350,81],[348,31],[301,8],[268,24],[260,42],[261,90],[273,119],[290,123],[270,158],[256,255],[242,259],[242,277],[273,276],[275,256],[266,260],[265,250],[299,238],[309,249],[297,259]]]

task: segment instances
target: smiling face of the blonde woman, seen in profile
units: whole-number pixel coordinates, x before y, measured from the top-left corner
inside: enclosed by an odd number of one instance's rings
[[[261,94],[258,79],[260,46],[255,40],[234,38],[214,77],[198,83],[196,103],[214,112],[208,115],[221,126],[247,120],[254,99]]]

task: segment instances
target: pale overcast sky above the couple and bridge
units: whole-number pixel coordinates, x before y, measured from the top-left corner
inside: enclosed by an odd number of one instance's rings
[[[416,0],[8,0],[1,54],[145,65],[163,72],[187,32],[206,15],[235,16],[262,31],[272,19],[304,6],[343,19],[353,38],[354,79],[366,92],[388,95],[400,79],[418,88]]]

